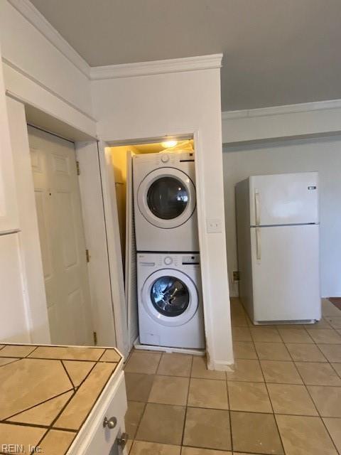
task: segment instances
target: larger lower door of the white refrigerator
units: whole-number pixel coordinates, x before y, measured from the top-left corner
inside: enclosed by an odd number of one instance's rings
[[[319,226],[251,228],[254,322],[321,318]]]

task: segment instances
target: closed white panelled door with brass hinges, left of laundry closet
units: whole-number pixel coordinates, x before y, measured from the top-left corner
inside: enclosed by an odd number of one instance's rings
[[[91,345],[85,237],[74,144],[28,127],[52,343]]]

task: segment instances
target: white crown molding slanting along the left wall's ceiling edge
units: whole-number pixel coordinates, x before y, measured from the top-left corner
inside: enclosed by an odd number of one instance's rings
[[[63,36],[48,22],[36,6],[29,0],[8,0],[24,18],[27,19],[60,53],[69,60],[72,65],[81,71],[87,78],[90,78],[90,65],[67,43]]]

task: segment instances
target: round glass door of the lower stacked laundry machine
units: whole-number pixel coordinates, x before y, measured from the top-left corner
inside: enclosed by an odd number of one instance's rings
[[[162,269],[144,282],[141,301],[154,321],[163,326],[182,326],[197,311],[197,288],[183,272]]]

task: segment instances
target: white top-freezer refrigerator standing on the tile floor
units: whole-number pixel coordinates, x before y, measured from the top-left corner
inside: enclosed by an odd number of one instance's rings
[[[254,323],[321,318],[318,173],[236,186],[239,298]]]

